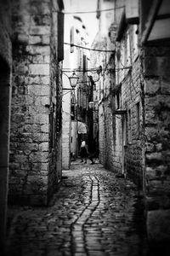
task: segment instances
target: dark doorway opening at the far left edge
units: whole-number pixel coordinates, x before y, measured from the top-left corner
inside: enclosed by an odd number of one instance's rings
[[[8,200],[10,85],[10,68],[6,61],[0,58],[0,243],[2,246],[5,241]]]

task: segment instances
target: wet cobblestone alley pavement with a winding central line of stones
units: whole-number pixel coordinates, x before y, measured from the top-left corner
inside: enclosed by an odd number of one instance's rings
[[[9,207],[9,256],[145,256],[135,185],[100,164],[71,165],[51,207]]]

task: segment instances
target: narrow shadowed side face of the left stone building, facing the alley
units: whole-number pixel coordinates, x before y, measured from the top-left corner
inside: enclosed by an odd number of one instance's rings
[[[49,173],[48,173],[48,198],[54,194],[61,180],[61,134],[62,134],[62,82],[59,63],[59,9],[57,1],[51,1],[51,37],[50,37],[50,132],[49,132]],[[62,37],[62,35],[60,35]]]

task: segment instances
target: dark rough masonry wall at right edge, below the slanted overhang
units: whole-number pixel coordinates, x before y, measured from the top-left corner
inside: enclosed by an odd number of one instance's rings
[[[144,57],[146,209],[150,239],[170,238],[170,47],[148,46]]]

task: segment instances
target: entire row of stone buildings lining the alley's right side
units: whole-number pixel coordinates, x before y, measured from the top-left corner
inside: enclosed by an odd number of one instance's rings
[[[170,5],[167,1],[115,3],[115,58],[112,64],[105,58],[100,81],[100,161],[139,186],[149,241],[162,245],[170,239]],[[100,49],[111,49],[111,31],[107,32]]]

